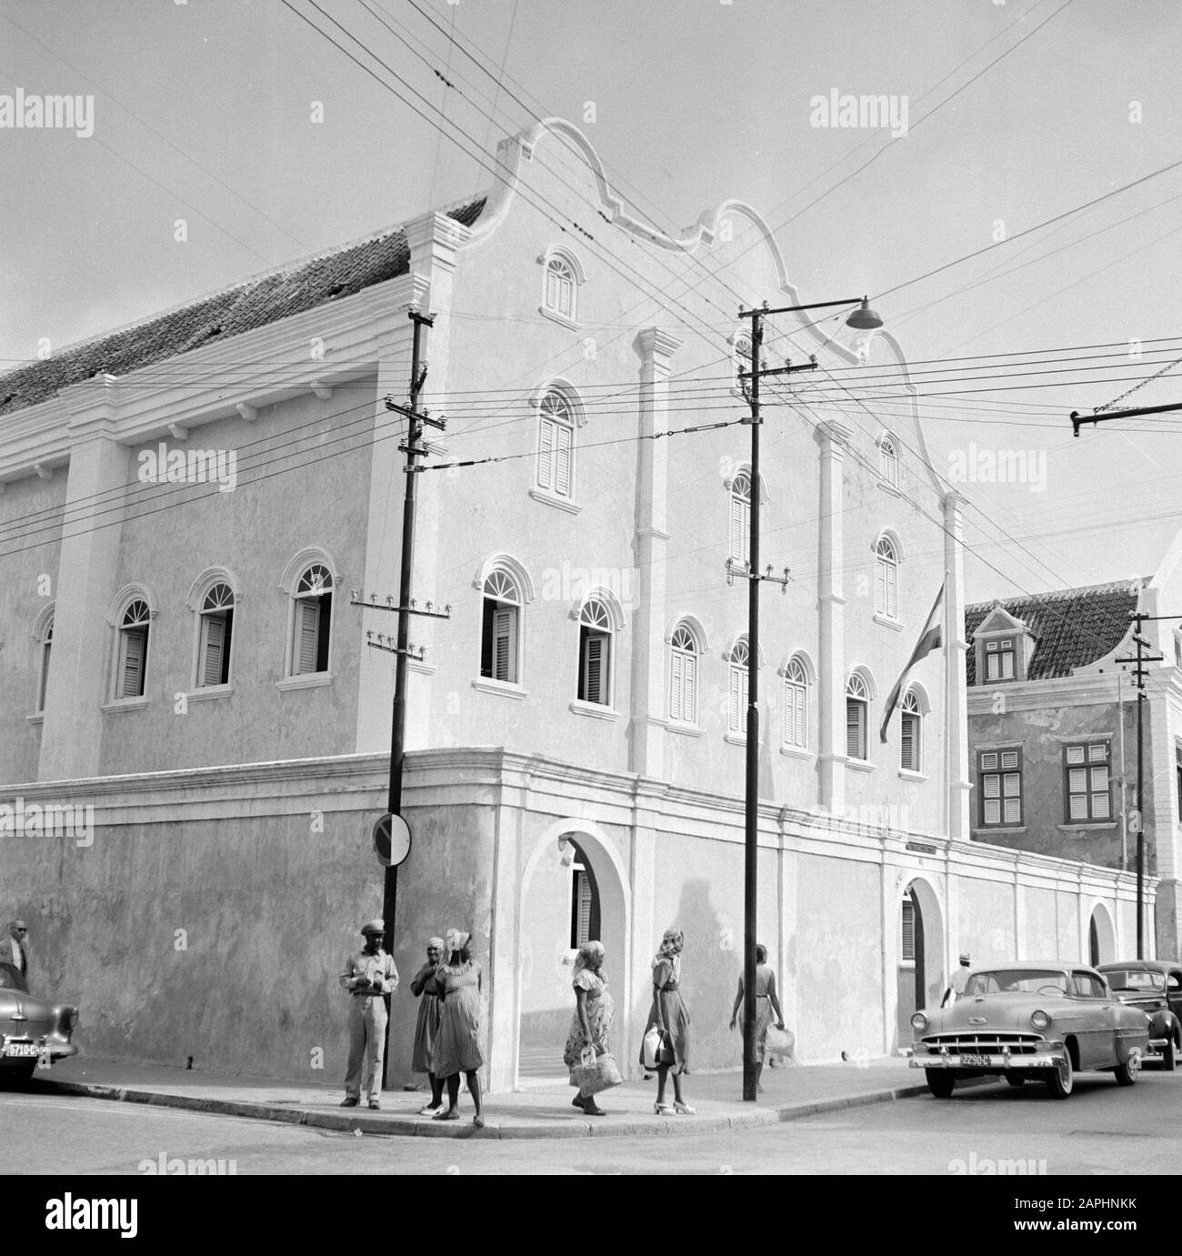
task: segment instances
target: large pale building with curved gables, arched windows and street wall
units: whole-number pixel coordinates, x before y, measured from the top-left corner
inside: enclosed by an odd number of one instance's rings
[[[631,1064],[671,923],[696,1063],[739,1060],[755,492],[764,561],[791,568],[759,651],[759,932],[800,1056],[909,1040],[960,950],[1083,955],[1097,918],[1127,938],[1128,874],[968,842],[960,502],[909,384],[889,420],[766,386],[752,482],[726,311],[800,300],[764,221],[727,201],[663,235],[559,121],[497,156],[487,197],[0,379],[0,803],[95,815],[89,844],[34,825],[0,859],[89,1041],[343,1065],[337,966],[381,906],[393,659],[367,634],[393,632],[404,421],[382,399],[407,394],[412,305],[447,416],[427,463],[479,465],[417,480],[413,592],[451,618],[412,624],[394,953],[407,975],[471,927],[494,1088],[560,1071],[594,933]],[[769,353],[816,353],[827,398],[825,371],[870,359],[906,379],[889,332],[839,332],[775,320]],[[883,741],[946,574],[946,646]]]

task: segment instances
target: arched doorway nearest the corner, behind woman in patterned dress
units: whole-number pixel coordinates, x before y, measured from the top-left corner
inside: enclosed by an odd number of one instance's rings
[[[627,1032],[627,896],[604,835],[572,823],[548,830],[521,885],[518,973],[518,1086],[565,1084],[563,1048],[574,1015],[570,977],[579,946],[607,948],[604,971],[615,1002],[613,1037]],[[621,1060],[623,1068],[623,1060]]]

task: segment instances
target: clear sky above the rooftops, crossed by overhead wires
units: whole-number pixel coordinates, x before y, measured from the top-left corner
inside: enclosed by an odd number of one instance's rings
[[[1182,357],[1182,166],[921,276],[1182,161],[1179,35],[1177,0],[0,0],[0,111],[94,98],[85,137],[0,126],[0,369],[482,190],[556,114],[657,226],[740,197],[803,300],[874,296],[970,475],[971,599],[1147,574],[1182,412],[1068,413]],[[818,126],[833,93],[906,133]],[[1182,365],[1128,404],[1176,401]],[[996,451],[1026,482],[980,481]]]

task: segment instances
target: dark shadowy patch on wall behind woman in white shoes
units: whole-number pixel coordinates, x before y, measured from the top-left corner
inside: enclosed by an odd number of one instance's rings
[[[729,1025],[731,1005],[741,966],[742,938],[732,936],[730,926],[711,899],[708,880],[687,882],[673,918],[666,928],[680,928],[685,934],[681,956],[681,991],[690,1010],[690,1069],[724,1069],[742,1063],[742,1044]],[[648,958],[661,946],[659,933],[653,937]],[[652,1004],[652,985],[637,992],[637,1031],[643,1032]],[[641,1044],[621,1044],[629,1060],[639,1056]]]

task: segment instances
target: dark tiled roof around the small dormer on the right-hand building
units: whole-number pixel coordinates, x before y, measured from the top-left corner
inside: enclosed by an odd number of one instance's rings
[[[1119,580],[1085,589],[1010,598],[1001,605],[1015,619],[1021,619],[1034,636],[1026,679],[1044,681],[1070,676],[1074,668],[1095,662],[1115,649],[1128,632],[1129,612],[1137,609],[1137,590],[1134,582]],[[970,685],[976,681],[972,634],[992,609],[992,602],[965,607],[965,638],[970,643],[965,662]]]

